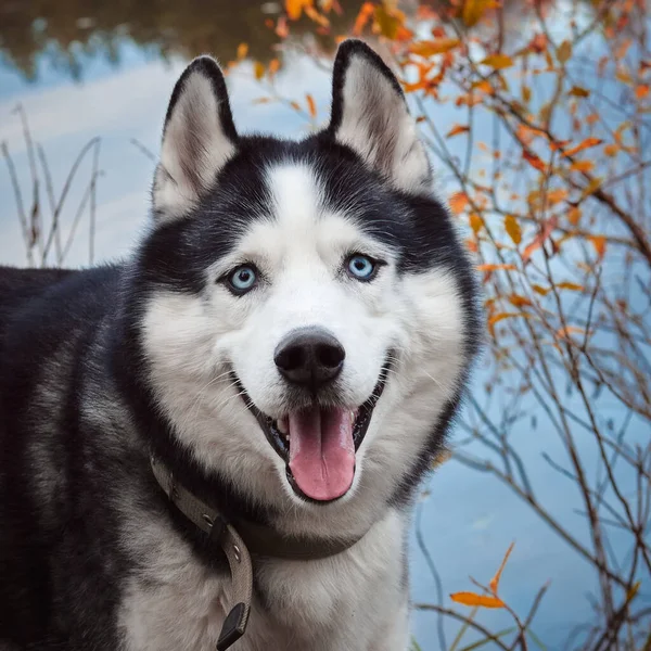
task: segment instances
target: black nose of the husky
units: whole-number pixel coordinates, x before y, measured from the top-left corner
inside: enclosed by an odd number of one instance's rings
[[[316,390],[342,371],[346,352],[326,330],[301,328],[290,332],[276,348],[273,360],[290,382]]]

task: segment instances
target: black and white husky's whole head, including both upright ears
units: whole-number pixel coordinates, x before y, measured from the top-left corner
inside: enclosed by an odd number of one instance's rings
[[[386,502],[441,443],[476,320],[431,181],[397,80],[359,41],[302,142],[238,135],[209,58],[177,82],[138,258],[146,373],[179,444],[248,498]]]

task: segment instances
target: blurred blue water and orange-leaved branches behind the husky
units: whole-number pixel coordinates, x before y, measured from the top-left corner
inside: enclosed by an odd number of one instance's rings
[[[190,58],[219,59],[241,131],[301,138],[366,39],[485,290],[416,510],[413,649],[649,651],[650,27],[644,0],[0,0],[0,264],[129,254]]]

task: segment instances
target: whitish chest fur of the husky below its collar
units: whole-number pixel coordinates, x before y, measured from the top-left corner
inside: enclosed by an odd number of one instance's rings
[[[118,627],[138,651],[215,649],[230,580],[197,561],[163,520],[127,521],[130,553],[144,556],[127,583]],[[256,589],[235,651],[384,651],[407,642],[403,515],[391,511],[354,548],[319,561],[254,561]],[[135,527],[129,533],[129,528]]]

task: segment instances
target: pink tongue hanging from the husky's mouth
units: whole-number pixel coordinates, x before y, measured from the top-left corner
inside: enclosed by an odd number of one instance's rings
[[[291,413],[289,432],[290,470],[298,488],[320,501],[344,495],[355,475],[350,412],[315,407]]]

